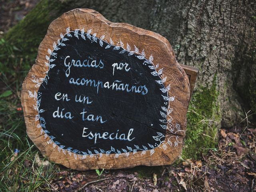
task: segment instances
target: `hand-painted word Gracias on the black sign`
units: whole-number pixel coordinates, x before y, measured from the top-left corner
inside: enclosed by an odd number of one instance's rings
[[[82,63],[80,60],[74,60],[72,59],[71,63],[68,62],[68,64],[66,63],[66,59],[70,58],[70,56],[66,56],[65,60],[64,60],[64,66],[68,67],[68,69],[66,70],[66,77],[69,76],[70,74],[70,68],[73,65],[74,67],[94,67],[94,68],[104,68],[104,63],[100,60],[99,62],[97,62],[97,60],[92,60],[92,58],[90,58],[90,56],[88,56],[88,59],[85,59]]]

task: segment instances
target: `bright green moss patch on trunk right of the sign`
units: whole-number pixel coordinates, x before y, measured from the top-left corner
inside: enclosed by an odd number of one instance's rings
[[[182,158],[199,158],[206,149],[214,148],[217,143],[218,126],[218,91],[216,90],[216,75],[212,85],[201,87],[192,96],[187,114],[187,131]]]

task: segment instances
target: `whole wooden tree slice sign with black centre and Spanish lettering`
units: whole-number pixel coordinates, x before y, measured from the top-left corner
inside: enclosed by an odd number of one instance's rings
[[[189,100],[168,40],[89,9],[50,24],[21,96],[30,139],[76,170],[171,164]]]

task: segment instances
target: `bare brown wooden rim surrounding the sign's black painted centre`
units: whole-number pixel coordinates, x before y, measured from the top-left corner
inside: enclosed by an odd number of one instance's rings
[[[154,149],[154,154],[149,151],[146,154],[130,154],[126,156],[121,154],[118,158],[114,154],[102,157],[84,158],[73,153],[64,153],[58,146],[50,143],[50,138],[44,138],[41,129],[37,127],[38,121],[35,120],[38,111],[34,109],[34,99],[29,97],[29,91],[38,92],[38,87],[32,82],[32,79],[45,78],[48,67],[45,65],[48,48],[52,48],[54,42],[60,38],[60,33],[64,34],[66,28],[92,29],[92,34],[97,37],[105,35],[105,39],[110,38],[116,42],[120,39],[126,45],[135,45],[139,50],[144,50],[146,57],[154,57],[154,63],[159,64],[159,68],[164,68],[163,75],[167,77],[165,86],[170,84],[168,94],[175,96],[172,102],[174,112],[172,113],[173,124],[180,124],[180,130],[177,134],[172,134],[169,130],[166,132],[166,140],[170,139],[175,146],[168,146],[165,150],[162,146]],[[44,156],[51,161],[62,164],[68,168],[76,170],[87,169],[116,169],[128,168],[138,165],[156,166],[171,164],[178,158],[182,150],[182,144],[186,131],[186,113],[190,100],[190,84],[187,75],[175,59],[174,51],[166,38],[154,32],[137,28],[126,23],[112,23],[106,20],[101,14],[89,9],[74,9],[64,13],[54,20],[47,31],[46,36],[38,48],[36,63],[32,66],[22,84],[21,102],[24,111],[27,134],[34,144],[39,148]]]

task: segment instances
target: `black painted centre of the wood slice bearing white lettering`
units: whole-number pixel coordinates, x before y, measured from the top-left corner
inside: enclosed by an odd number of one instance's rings
[[[144,151],[164,141],[168,94],[151,62],[80,30],[68,35],[38,90],[44,132],[76,154]]]

